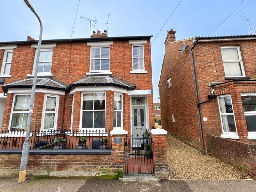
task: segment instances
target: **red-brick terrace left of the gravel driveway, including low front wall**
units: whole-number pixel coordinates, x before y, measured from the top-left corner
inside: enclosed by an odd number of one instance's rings
[[[124,135],[141,138],[154,126],[150,38],[108,37],[107,31],[97,31],[91,38],[42,41],[28,170],[46,171],[36,174],[47,177],[53,171],[71,171],[57,173],[63,177],[80,174],[72,171],[89,171],[80,175],[92,178],[97,172],[103,178],[121,177]],[[20,166],[37,43],[31,37],[27,41],[0,42],[0,127],[4,148],[0,152],[0,176],[5,174],[2,169],[17,171]],[[66,141],[60,143],[73,151],[35,151],[53,145],[56,135],[64,137]],[[115,135],[118,142],[110,135]],[[84,142],[79,138],[84,136],[87,141],[82,148],[87,142],[88,150],[77,152],[77,143]],[[110,149],[95,151],[101,149],[100,139],[105,136],[110,140]],[[104,171],[109,171],[110,176],[105,177]]]

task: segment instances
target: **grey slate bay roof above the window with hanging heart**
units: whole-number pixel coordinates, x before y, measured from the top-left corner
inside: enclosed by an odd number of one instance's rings
[[[133,85],[126,83],[116,77],[113,77],[113,76],[89,75],[89,76],[84,77],[83,79],[80,79],[79,81],[76,81],[76,82],[70,84],[67,87],[67,90],[71,90],[76,86],[106,86],[106,85],[121,87],[121,88],[125,88],[128,90],[134,89]]]

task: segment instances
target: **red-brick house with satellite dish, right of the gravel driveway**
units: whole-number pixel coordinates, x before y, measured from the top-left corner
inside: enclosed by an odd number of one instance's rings
[[[164,42],[163,128],[255,176],[256,35],[176,40],[175,33]]]

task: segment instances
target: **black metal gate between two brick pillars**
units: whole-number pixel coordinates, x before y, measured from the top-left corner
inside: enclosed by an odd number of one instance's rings
[[[151,138],[124,138],[124,174],[154,174]]]

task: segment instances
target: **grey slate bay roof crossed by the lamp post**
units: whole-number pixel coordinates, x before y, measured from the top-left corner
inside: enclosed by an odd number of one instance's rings
[[[5,93],[7,93],[9,88],[30,88],[33,84],[33,78],[23,79],[20,81],[15,81],[12,83],[8,83],[2,86],[2,89]],[[57,82],[56,80],[46,77],[46,78],[37,78],[36,79],[36,87],[48,88],[48,89],[57,89],[57,90],[65,90],[67,88],[66,85]]]

